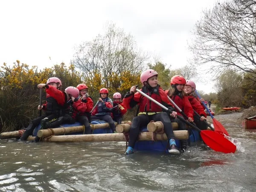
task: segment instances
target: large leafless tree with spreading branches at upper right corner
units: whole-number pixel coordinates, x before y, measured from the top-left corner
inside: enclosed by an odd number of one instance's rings
[[[255,0],[217,3],[203,12],[193,33],[195,39],[189,49],[195,64],[208,64],[217,76],[227,69],[256,73]]]

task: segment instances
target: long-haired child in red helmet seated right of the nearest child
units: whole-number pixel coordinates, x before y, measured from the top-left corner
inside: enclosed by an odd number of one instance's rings
[[[194,120],[194,111],[192,106],[190,105],[189,99],[185,96],[183,91],[184,85],[186,84],[186,79],[183,76],[173,76],[170,82],[172,88],[166,91],[166,94],[175,102],[175,104],[188,116],[188,122],[193,122]],[[181,113],[178,112],[177,115],[182,116]],[[183,117],[183,116],[182,116]],[[183,117],[184,118],[184,117]],[[172,122],[177,122],[180,130],[186,130],[186,125],[184,122],[179,119],[174,119]],[[181,151],[186,151],[187,148],[187,140],[180,140]]]

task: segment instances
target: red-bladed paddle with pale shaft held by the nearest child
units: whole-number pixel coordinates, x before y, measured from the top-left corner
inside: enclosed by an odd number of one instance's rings
[[[141,90],[139,90],[139,89],[136,89],[136,90],[141,95],[145,96],[146,98],[148,98],[149,100],[151,100],[155,104],[162,107],[164,110],[168,111],[169,113],[172,113],[172,111],[170,109],[166,108],[164,105],[160,104],[159,102],[157,102],[156,100],[154,100],[153,98],[148,96],[147,94],[143,93]],[[220,151],[220,152],[223,152],[223,153],[235,153],[236,145],[231,143],[225,137],[222,137],[220,134],[216,133],[215,131],[210,131],[210,130],[202,131],[199,128],[197,128],[195,125],[191,124],[190,122],[187,122],[181,116],[177,115],[177,118],[180,119],[181,121],[185,122],[190,127],[196,129],[200,133],[204,143],[206,143],[206,145],[208,145],[214,151]]]

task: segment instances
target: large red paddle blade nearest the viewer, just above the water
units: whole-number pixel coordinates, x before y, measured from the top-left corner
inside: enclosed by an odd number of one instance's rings
[[[235,153],[236,151],[236,145],[215,131],[204,130],[200,132],[200,135],[204,143],[214,151],[222,153]]]

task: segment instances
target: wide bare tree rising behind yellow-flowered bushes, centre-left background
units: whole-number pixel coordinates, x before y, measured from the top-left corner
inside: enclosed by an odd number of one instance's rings
[[[138,73],[144,68],[148,54],[137,48],[137,43],[131,34],[107,24],[104,35],[98,35],[93,41],[83,42],[75,48],[73,64],[92,79],[95,73],[102,75],[102,84],[107,87],[108,78],[113,73],[121,74],[128,71]]]

